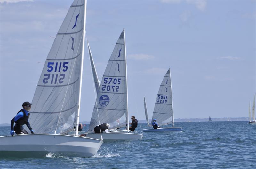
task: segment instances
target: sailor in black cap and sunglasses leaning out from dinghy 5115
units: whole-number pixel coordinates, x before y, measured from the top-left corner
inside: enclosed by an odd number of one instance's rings
[[[23,128],[23,125],[26,124],[28,126],[28,129],[32,134],[35,132],[32,130],[28,118],[29,118],[29,111],[31,109],[31,103],[29,102],[24,102],[22,104],[23,109],[21,109],[15,117],[11,120],[11,135],[13,136],[14,132],[16,134],[28,134],[28,131],[26,131]],[[13,128],[13,124],[15,122],[15,126]],[[14,129],[14,130],[13,130]]]

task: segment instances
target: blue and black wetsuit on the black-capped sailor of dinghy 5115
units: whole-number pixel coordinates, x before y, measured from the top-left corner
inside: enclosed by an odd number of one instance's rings
[[[13,130],[13,124],[15,122],[14,131],[16,134],[28,134],[28,132],[23,128],[23,125],[26,124],[29,130],[32,130],[29,122],[29,112],[25,109],[21,109],[15,117],[11,120],[11,130]],[[21,133],[22,132],[22,133]]]

